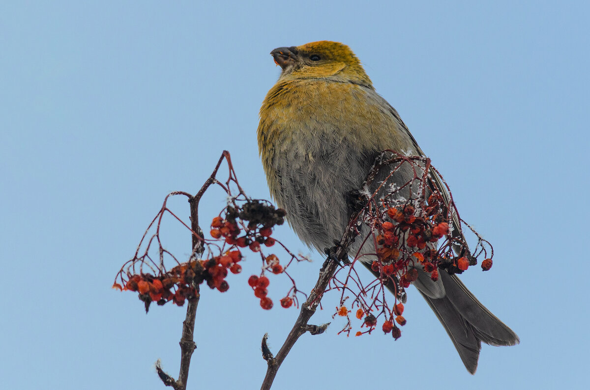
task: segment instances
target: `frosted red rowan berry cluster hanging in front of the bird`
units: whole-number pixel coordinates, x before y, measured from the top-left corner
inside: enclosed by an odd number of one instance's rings
[[[409,158],[405,161],[408,162]],[[471,255],[460,226],[457,226],[460,218],[452,198],[445,201],[441,190],[429,186],[430,168],[426,164],[427,161],[421,163],[427,168],[412,163],[416,172],[414,179],[402,183],[401,186],[392,186],[391,193],[379,201],[369,200],[362,210],[363,222],[372,227],[365,240],[374,240],[376,253],[357,254],[346,278],[340,280],[337,273],[333,278],[334,288],[342,291],[340,306],[336,308],[335,316],[345,316],[348,319],[341,332],[350,334],[351,310],[358,307],[356,318],[362,320],[361,328],[367,330],[356,332],[357,336],[371,333],[376,328],[379,317],[382,317],[383,332],[392,333],[392,336],[398,339],[401,336],[398,326],[406,323],[402,316],[402,302],[405,303],[404,289],[418,279],[419,273],[426,273],[434,281],[438,280],[441,270],[451,275],[463,273],[468,267],[477,264],[477,256],[482,253],[487,255],[486,247],[491,249],[489,243],[470,228],[478,238],[477,253]],[[401,164],[398,168],[400,166]],[[403,187],[412,188],[416,185],[421,189],[418,196],[409,200],[399,196],[398,191]],[[429,196],[425,195],[426,188],[431,189]],[[422,196],[419,193],[422,193]],[[371,199],[375,197],[373,194]],[[458,229],[455,234],[454,229]],[[360,234],[358,230],[356,232]],[[373,257],[375,260],[371,263],[371,270],[376,279],[368,284],[363,283],[353,271],[356,261],[363,256],[376,257]],[[481,263],[481,268],[489,270],[491,265],[491,259],[485,259]],[[394,305],[387,302],[385,288],[394,291]],[[346,291],[353,293],[353,300],[349,306],[352,309],[345,306],[349,298],[345,296]]]

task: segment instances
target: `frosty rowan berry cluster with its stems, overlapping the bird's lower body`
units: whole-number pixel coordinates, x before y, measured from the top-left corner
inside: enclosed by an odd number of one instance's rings
[[[390,183],[401,176],[396,175],[400,170],[414,175],[405,183]],[[371,181],[383,172],[385,179],[381,175],[371,186]],[[346,317],[347,322],[340,333],[350,335],[350,313],[355,313],[352,317],[359,320],[362,329],[356,336],[380,326],[385,334],[398,339],[400,327],[407,323],[402,316],[405,289],[421,273],[432,280],[438,280],[440,272],[460,274],[476,265],[479,257],[485,259],[481,269],[489,270],[493,248],[460,218],[447,184],[429,158],[385,151],[376,159],[366,183],[365,189],[375,190],[366,191],[368,201],[349,229],[354,230],[356,242],[372,243],[376,250],[349,251],[350,265],[336,271],[328,290],[341,293],[334,316]],[[361,221],[369,227],[368,233],[360,231]],[[463,225],[477,237],[473,252],[464,239]],[[356,270],[359,262],[369,265],[374,279],[361,280],[359,274],[363,271]],[[386,293],[386,289],[394,295]]]

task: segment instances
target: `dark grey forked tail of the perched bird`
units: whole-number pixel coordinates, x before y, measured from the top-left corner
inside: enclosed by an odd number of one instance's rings
[[[515,345],[519,338],[486,309],[456,275],[448,275],[444,270],[439,275],[445,292],[442,298],[429,297],[417,285],[418,290],[447,330],[467,371],[474,374],[482,341],[496,346]]]

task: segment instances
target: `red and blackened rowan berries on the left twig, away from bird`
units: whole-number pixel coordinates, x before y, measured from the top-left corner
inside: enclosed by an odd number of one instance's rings
[[[290,262],[283,266],[276,255],[265,256],[261,251],[261,245],[271,247],[277,243],[277,240],[271,237],[273,227],[283,224],[284,216],[284,210],[275,209],[266,201],[247,200],[241,205],[234,201],[211,222],[213,240],[207,240],[206,244],[210,250],[215,250],[217,247],[219,255],[181,263],[171,270],[161,269],[159,276],[154,276],[152,273],[129,272],[135,262],[143,266],[145,259],[149,259],[149,256],[144,255],[141,259],[132,260],[126,273],[122,269],[119,273],[122,285],[114,283],[113,287],[138,292],[140,300],[145,302],[146,310],[152,302],[164,305],[172,301],[182,306],[186,299],[198,295],[197,286],[204,282],[211,289],[226,292],[230,288],[226,278],[230,273],[237,274],[242,271],[239,264],[243,257],[241,249],[248,248],[251,252],[258,253],[263,259],[262,274],[260,277],[251,276],[248,283],[253,287],[254,295],[260,298],[260,306],[263,309],[271,309],[273,301],[267,296],[270,281],[264,276],[264,272],[278,275],[284,272]],[[218,244],[219,242],[221,243]],[[229,249],[227,249],[228,246]],[[291,260],[294,258],[295,256],[291,255]],[[295,298],[297,289],[294,288],[294,282],[291,292]],[[293,298],[287,296],[281,299],[281,306],[289,308],[294,302]]]

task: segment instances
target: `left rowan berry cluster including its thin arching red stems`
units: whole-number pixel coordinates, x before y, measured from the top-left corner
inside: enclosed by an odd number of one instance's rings
[[[199,286],[207,285],[219,292],[230,289],[230,277],[242,273],[242,261],[246,257],[258,257],[260,267],[257,275],[247,279],[253,289],[253,295],[260,300],[263,309],[273,308],[273,300],[268,296],[270,279],[268,276],[284,275],[289,277],[291,287],[280,300],[283,308],[299,306],[297,295],[301,293],[293,278],[289,275],[291,263],[304,260],[294,255],[280,241],[271,237],[274,227],[284,223],[285,211],[277,209],[266,200],[250,199],[244,194],[230,166],[230,177],[225,183],[214,181],[227,194],[227,207],[211,220],[207,239],[194,232],[190,223],[185,223],[167,207],[171,196],[192,196],[177,191],[166,196],[164,204],[150,223],[133,259],[126,262],[117,274],[113,288],[136,292],[145,304],[146,312],[152,302],[165,305],[172,302],[183,306],[186,300],[199,296]],[[237,187],[238,195],[232,194]],[[200,243],[185,262],[163,247],[160,238],[160,224],[165,215],[181,223]],[[155,233],[149,234],[150,232]],[[203,250],[197,252],[198,248]],[[276,250],[266,255],[267,250]],[[142,252],[143,250],[143,252]],[[279,259],[277,251],[283,253]],[[231,282],[234,283],[234,282]],[[305,294],[303,294],[305,295]]]

